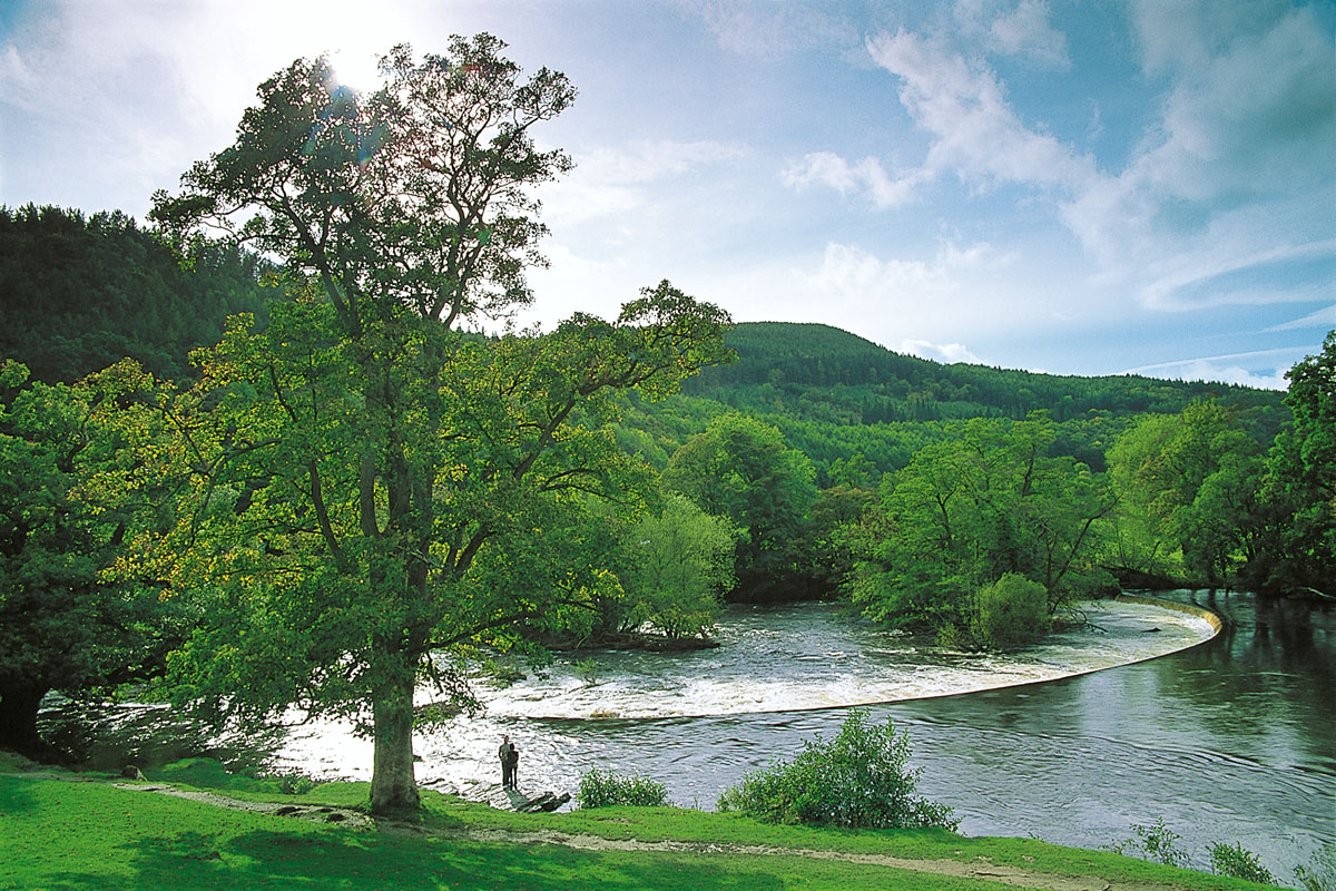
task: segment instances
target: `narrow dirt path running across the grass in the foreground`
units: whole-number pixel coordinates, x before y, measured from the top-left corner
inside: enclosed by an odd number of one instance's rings
[[[818,851],[811,848],[779,848],[754,844],[713,844],[708,842],[639,842],[636,839],[605,839],[599,835],[572,835],[553,830],[537,832],[512,832],[508,830],[468,830],[449,831],[432,828],[424,830],[415,823],[402,820],[378,820],[354,808],[327,807],[322,804],[282,803],[282,801],[251,801],[236,799],[219,792],[204,792],[195,789],[182,789],[166,783],[146,783],[128,780],[102,780],[81,777],[69,773],[55,772],[23,772],[12,776],[25,776],[31,779],[61,780],[69,783],[107,783],[116,788],[132,792],[156,792],[159,795],[172,795],[175,797],[190,799],[214,807],[226,807],[238,811],[251,811],[257,814],[270,814],[274,816],[287,816],[305,820],[317,820],[346,826],[357,830],[375,830],[397,835],[432,835],[444,839],[460,839],[466,842],[486,842],[501,844],[560,844],[580,851],[655,851],[655,852],[684,852],[684,854],[731,854],[741,856],[798,856],[815,860],[838,860],[843,863],[858,863],[862,866],[886,866],[896,870],[910,870],[912,872],[930,872],[934,875],[950,875],[965,879],[987,879],[1001,884],[1019,888],[1041,888],[1046,891],[1181,891],[1181,886],[1160,884],[1150,882],[1112,882],[1100,876],[1079,875],[1065,876],[1051,872],[1035,872],[1019,867],[998,864],[986,858],[977,858],[973,862],[962,860],[914,860],[892,858],[879,854],[846,854],[840,851]]]

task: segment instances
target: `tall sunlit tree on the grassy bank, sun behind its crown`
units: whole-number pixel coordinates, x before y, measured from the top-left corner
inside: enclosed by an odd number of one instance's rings
[[[140,569],[214,616],[176,663],[196,697],[362,721],[377,814],[418,803],[420,680],[596,585],[546,530],[589,493],[635,500],[641,474],[574,418],[725,354],[725,315],[667,282],[611,323],[460,330],[530,301],[545,231],[532,187],[570,167],[532,131],[574,90],[546,68],[522,77],[504,47],[395,48],[370,95],[298,60],[262,84],[231,147],[155,200],[182,250],[210,231],[248,240],[283,260],[298,299],[263,331],[234,326],[200,357],[200,383],[164,403],[178,433],[159,453],[194,468],[195,488]]]

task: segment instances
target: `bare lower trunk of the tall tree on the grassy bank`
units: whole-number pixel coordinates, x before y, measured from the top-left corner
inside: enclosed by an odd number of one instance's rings
[[[417,777],[413,775],[413,681],[411,660],[385,672],[371,704],[375,753],[371,764],[371,814],[415,816]],[[386,661],[391,661],[386,660]],[[407,663],[405,667],[402,663]]]

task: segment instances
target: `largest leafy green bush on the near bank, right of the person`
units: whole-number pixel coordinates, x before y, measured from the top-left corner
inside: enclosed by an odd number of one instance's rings
[[[744,776],[720,796],[719,810],[767,823],[955,830],[961,820],[950,807],[914,796],[919,771],[904,768],[908,755],[907,733],[854,711],[831,741],[808,741],[792,761]]]

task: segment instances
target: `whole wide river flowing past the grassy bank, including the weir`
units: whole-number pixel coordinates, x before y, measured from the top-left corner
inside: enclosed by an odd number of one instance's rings
[[[953,806],[967,835],[1100,847],[1164,819],[1198,867],[1208,844],[1238,842],[1293,883],[1295,866],[1336,844],[1336,617],[1246,594],[1176,597],[1197,597],[1225,628],[1102,604],[1041,648],[981,657],[915,647],[830,605],[733,609],[717,649],[558,657],[482,685],[484,715],[418,737],[418,780],[502,801],[496,747],[509,733],[526,791],[573,791],[600,767],[712,808],[748,771],[834,736],[856,705],[908,732],[919,792]],[[142,761],[154,759],[146,733],[158,757],[188,748],[162,729],[163,709],[103,717],[102,735]],[[329,724],[287,731],[267,756],[323,777],[366,779],[371,763],[367,741]]]

